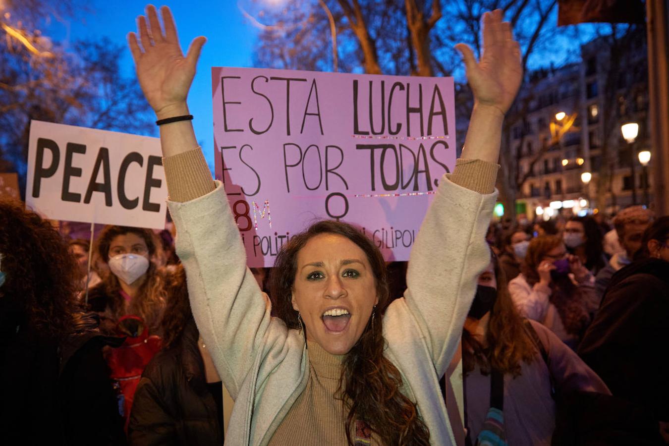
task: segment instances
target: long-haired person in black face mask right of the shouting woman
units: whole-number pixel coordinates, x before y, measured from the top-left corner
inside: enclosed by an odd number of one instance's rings
[[[537,342],[547,352],[548,362],[542,359]],[[495,256],[479,276],[464,324],[462,365],[465,425],[471,444],[483,438],[479,434],[486,431],[484,421],[494,402],[501,409],[497,417],[502,417],[496,425],[502,426],[508,444],[551,445],[556,412],[551,377],[565,391],[610,395],[597,374],[553,332],[520,317]],[[492,376],[496,376],[494,382]],[[501,398],[491,399],[491,393]]]

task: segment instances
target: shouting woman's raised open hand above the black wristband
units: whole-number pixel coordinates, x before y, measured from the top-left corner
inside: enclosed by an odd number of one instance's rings
[[[139,41],[136,33],[128,34],[137,79],[159,119],[187,112],[188,90],[195,76],[200,50],[207,40],[202,36],[193,39],[184,57],[172,13],[167,6],[161,7],[161,13],[165,32],[161,29],[158,11],[149,5],[147,17],[140,15],[137,19]]]

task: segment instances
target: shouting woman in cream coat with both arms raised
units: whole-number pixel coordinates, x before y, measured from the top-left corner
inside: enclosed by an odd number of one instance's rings
[[[186,96],[205,39],[197,37],[184,57],[169,9],[161,13],[164,31],[155,7],[139,17],[130,49],[162,124],[169,207],[193,316],[235,399],[227,442],[453,444],[437,377],[489,262],[484,235],[502,120],[522,78],[502,11],[484,14],[480,62],[458,45],[475,99],[463,158],[440,182],[411,253],[407,291],[392,304],[379,250],[332,221],[284,246],[272,303],[262,294],[225,191],[212,181],[188,120]]]

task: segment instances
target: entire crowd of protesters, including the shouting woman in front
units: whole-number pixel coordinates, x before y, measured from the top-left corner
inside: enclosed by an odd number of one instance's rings
[[[458,47],[470,129],[409,262],[320,221],[269,271],[246,266],[186,117],[204,39],[184,57],[161,15],[147,8],[130,48],[167,120],[177,247],[119,226],[68,240],[0,203],[7,444],[455,444],[440,379],[458,349],[467,444],[669,444],[669,217],[490,223],[522,76],[501,11],[484,15],[480,62]]]

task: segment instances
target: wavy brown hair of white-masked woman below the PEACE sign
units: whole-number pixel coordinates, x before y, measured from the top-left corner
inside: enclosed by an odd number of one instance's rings
[[[132,299],[131,310],[133,314],[140,316],[147,326],[150,327],[150,332],[153,334],[158,328],[165,302],[167,302],[167,292],[163,286],[165,282],[165,271],[156,265],[153,258],[157,253],[157,237],[153,231],[139,227],[126,226],[106,226],[100,232],[98,240],[96,241],[96,255],[104,263],[109,262],[109,248],[114,238],[119,235],[126,235],[132,233],[141,237],[147,244],[149,250],[149,269],[147,270],[147,280],[139,289],[138,295]],[[100,275],[102,282],[96,288],[102,288],[106,296],[108,296],[108,308],[111,312],[112,318],[118,320],[124,316],[125,302],[120,294],[120,282],[118,277],[108,269],[101,269]]]

